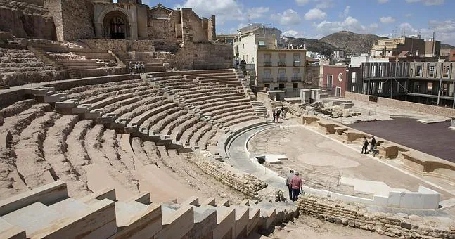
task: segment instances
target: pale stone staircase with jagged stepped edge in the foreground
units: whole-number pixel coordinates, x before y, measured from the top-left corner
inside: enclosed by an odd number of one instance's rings
[[[117,200],[115,188],[70,198],[56,181],[0,201],[1,238],[247,238],[298,216],[294,202],[191,197],[156,203],[150,193]]]

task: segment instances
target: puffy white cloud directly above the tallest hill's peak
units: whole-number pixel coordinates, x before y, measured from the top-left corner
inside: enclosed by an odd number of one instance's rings
[[[368,31],[368,27],[361,25],[359,20],[352,18],[351,16],[348,16],[342,22],[329,22],[324,20],[321,23],[316,24],[315,27],[321,34],[332,34],[333,32],[340,32],[343,30],[357,33],[366,33]]]

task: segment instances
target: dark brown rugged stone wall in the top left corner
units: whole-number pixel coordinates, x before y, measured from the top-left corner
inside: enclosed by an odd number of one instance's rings
[[[11,32],[15,37],[56,39],[52,15],[42,4],[32,6],[17,1],[7,1],[4,4],[5,6],[0,8],[0,31]],[[40,4],[40,1],[37,1],[37,4]],[[8,8],[8,5],[11,8]]]

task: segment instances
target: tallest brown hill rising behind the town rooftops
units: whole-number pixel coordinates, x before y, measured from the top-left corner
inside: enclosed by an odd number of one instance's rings
[[[342,49],[347,53],[367,53],[370,51],[374,42],[387,37],[379,37],[374,34],[357,34],[354,32],[335,32],[320,39],[320,41],[331,44],[337,49]]]

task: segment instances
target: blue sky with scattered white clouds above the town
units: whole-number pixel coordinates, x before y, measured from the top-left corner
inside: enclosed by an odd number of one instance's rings
[[[455,45],[455,0],[162,0],[169,8],[193,8],[217,16],[217,34],[235,33],[248,22],[278,27],[293,37],[316,38],[340,30],[392,37],[422,34]],[[155,6],[157,1],[143,0]]]

